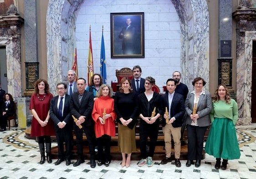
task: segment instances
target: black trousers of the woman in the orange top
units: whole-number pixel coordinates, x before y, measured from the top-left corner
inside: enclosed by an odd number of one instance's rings
[[[101,162],[110,161],[110,142],[111,136],[106,134],[97,138],[98,156]]]

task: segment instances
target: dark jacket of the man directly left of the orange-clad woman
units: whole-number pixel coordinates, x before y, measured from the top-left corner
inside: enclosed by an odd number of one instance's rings
[[[84,90],[84,95],[79,104],[78,92],[73,93],[70,100],[70,112],[75,118],[80,116],[85,116],[85,121],[82,126],[94,125],[94,120],[92,119],[92,111],[94,107],[94,94]]]

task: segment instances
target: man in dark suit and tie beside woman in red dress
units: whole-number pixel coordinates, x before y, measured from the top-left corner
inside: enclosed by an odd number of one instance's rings
[[[57,84],[56,97],[51,99],[50,106],[50,117],[54,123],[54,130],[56,133],[57,144],[58,144],[58,159],[54,163],[59,165],[66,159],[66,165],[70,165],[71,158],[71,128],[73,125],[72,119],[70,118],[70,96],[65,94],[67,92],[67,84],[60,82]],[[64,142],[66,147],[66,154],[64,153]]]

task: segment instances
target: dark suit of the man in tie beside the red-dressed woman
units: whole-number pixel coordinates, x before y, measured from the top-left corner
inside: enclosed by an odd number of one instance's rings
[[[54,130],[56,133],[56,138],[57,138],[57,143],[58,143],[58,159],[64,159],[64,156],[66,159],[70,160],[71,153],[72,153],[72,147],[71,147],[71,125],[72,123],[72,118],[70,115],[70,109],[69,109],[69,104],[70,104],[70,96],[68,94],[65,95],[65,102],[64,102],[64,107],[63,107],[63,116],[58,115],[58,98],[59,95],[56,97],[53,97],[51,99],[51,106],[50,106],[50,117],[54,123]],[[60,122],[65,122],[66,126],[64,128],[59,128],[58,123]],[[66,146],[66,155],[64,154],[64,142]]]

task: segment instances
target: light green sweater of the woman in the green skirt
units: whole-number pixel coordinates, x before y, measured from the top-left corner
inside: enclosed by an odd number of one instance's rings
[[[238,119],[238,106],[235,100],[231,99],[230,104],[221,100],[218,102],[213,102],[213,108],[210,112],[211,122],[214,121],[214,118],[229,118],[235,125]]]

